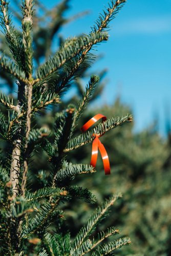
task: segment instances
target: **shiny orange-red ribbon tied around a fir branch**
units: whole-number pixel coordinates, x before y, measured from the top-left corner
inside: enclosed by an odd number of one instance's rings
[[[106,117],[101,114],[95,115],[81,127],[81,132],[86,132],[99,119],[102,119],[102,122],[104,122],[106,120]],[[104,172],[105,172],[105,175],[108,175],[108,174],[111,174],[109,157],[105,150],[104,145],[99,140],[99,137],[101,137],[103,135],[104,135],[104,133],[102,135],[93,134],[93,136],[95,136],[95,139],[93,140],[93,144],[92,144],[92,157],[91,157],[90,164],[93,165],[94,167],[96,166],[97,156],[98,156],[98,148],[99,148],[99,151],[100,151],[100,154],[101,154],[101,157],[103,160]]]

